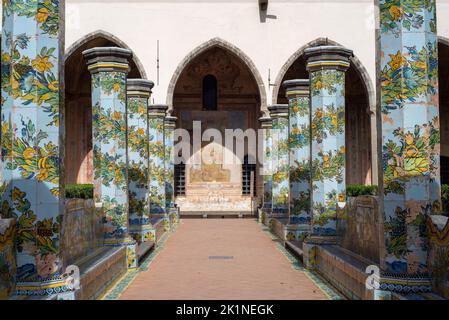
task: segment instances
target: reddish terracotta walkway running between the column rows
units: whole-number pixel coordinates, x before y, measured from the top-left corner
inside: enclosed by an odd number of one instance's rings
[[[183,220],[120,299],[327,299],[254,220]]]

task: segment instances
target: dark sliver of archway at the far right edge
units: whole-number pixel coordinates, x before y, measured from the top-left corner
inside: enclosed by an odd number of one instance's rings
[[[438,42],[441,183],[449,184],[449,39]]]

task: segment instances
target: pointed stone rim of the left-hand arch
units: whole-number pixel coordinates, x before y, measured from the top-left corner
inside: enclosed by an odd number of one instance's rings
[[[94,32],[86,34],[81,39],[75,41],[67,50],[65,53],[64,60],[67,61],[69,57],[72,56],[79,48],[81,48],[83,45],[89,43],[92,40],[95,39],[106,39],[112,43],[114,43],[116,46],[124,49],[129,49],[133,51],[124,41],[120,40],[118,37],[114,36],[112,33],[109,33],[104,30],[96,30]],[[133,51],[134,53],[134,51]],[[133,54],[132,61],[137,67],[137,70],[141,76],[142,79],[147,79],[147,74],[145,72],[145,68],[143,67],[143,64],[140,62],[139,58]]]

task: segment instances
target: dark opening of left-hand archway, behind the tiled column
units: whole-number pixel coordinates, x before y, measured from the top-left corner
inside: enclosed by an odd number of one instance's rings
[[[91,75],[82,52],[94,47],[122,47],[123,43],[105,32],[96,32],[78,41],[65,59],[66,156],[65,182],[92,183],[92,102]],[[144,76],[138,60],[131,63],[129,78]]]

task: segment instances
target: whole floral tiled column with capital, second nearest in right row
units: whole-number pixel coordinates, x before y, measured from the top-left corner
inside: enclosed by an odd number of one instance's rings
[[[346,206],[345,71],[352,51],[321,46],[306,49],[305,55],[311,90],[312,238],[333,242],[337,211]]]

